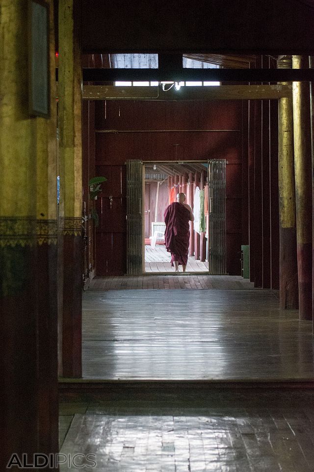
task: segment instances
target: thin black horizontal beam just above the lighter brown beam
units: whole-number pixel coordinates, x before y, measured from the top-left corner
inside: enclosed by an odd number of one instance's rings
[[[228,82],[314,81],[314,69],[108,69],[83,68],[83,81],[112,82],[124,80],[177,81],[205,80]]]

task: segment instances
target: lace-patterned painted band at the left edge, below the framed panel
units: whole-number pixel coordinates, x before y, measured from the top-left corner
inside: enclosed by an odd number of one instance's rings
[[[57,243],[57,220],[30,216],[0,216],[0,246],[34,246]]]

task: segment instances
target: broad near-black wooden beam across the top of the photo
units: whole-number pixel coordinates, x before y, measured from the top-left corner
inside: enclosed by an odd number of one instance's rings
[[[79,3],[84,54],[313,55],[312,0]]]

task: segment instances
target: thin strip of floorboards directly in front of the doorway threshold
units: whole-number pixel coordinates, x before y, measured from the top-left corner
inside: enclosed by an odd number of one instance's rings
[[[179,274],[172,275],[121,275],[109,277],[95,277],[92,279],[89,290],[143,290],[143,289],[219,289],[219,290],[253,290],[254,284],[248,279],[237,275],[202,275]]]

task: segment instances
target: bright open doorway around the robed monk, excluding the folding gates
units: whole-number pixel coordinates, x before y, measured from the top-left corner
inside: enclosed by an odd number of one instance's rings
[[[196,220],[190,221],[189,256],[186,272],[209,273],[208,162],[144,163],[143,245],[145,273],[174,272],[165,247],[165,209],[184,193]],[[201,196],[201,203],[200,203]],[[200,215],[202,216],[200,221]],[[182,267],[179,267],[182,271]]]

